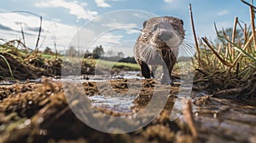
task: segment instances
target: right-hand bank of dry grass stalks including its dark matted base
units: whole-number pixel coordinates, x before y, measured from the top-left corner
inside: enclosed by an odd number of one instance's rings
[[[198,43],[193,60],[197,71],[195,83],[200,84],[199,89],[210,90],[216,97],[256,98],[255,7],[243,0],[241,2],[249,6],[250,26],[243,24],[236,17],[229,31],[218,31],[215,25],[218,37],[216,41],[211,41],[207,37],[195,37],[195,43]],[[193,15],[190,14],[194,29]]]

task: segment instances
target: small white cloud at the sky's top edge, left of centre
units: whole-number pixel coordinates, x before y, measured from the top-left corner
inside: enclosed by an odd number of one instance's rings
[[[77,16],[78,19],[91,20],[98,13],[96,11],[85,10],[83,6],[86,5],[87,3],[79,3],[78,1],[66,2],[65,0],[49,0],[46,2],[36,3],[37,7],[68,9],[69,14]]]

